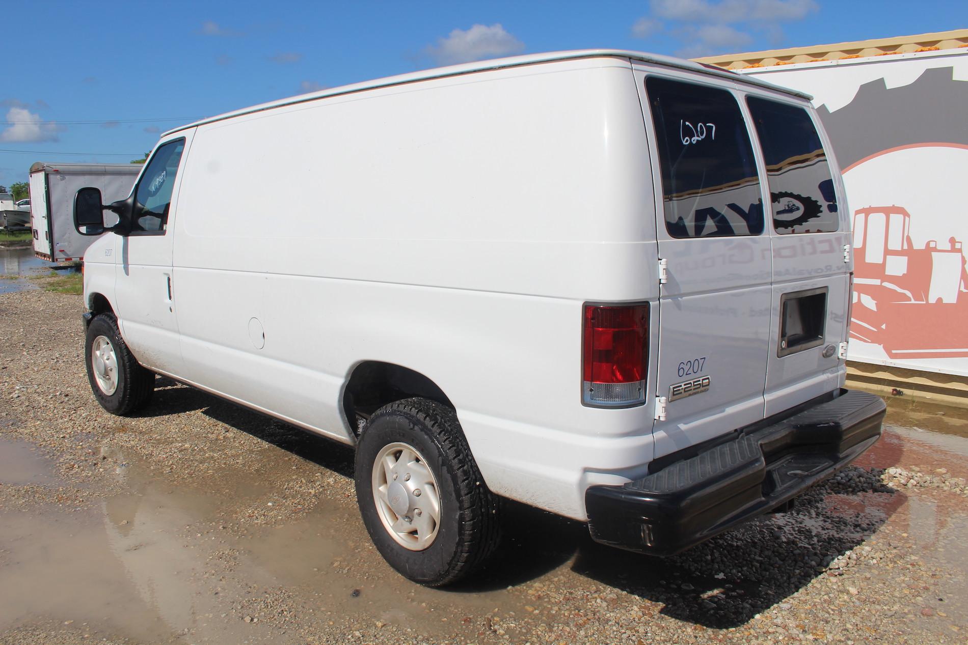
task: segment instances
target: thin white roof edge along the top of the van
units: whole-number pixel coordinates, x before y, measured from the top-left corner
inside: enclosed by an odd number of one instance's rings
[[[430,80],[433,78],[444,78],[447,76],[458,76],[465,73],[475,73],[475,72],[485,72],[488,70],[499,70],[502,68],[509,67],[520,67],[524,65],[533,65],[535,63],[550,63],[553,61],[561,60],[571,60],[575,58],[597,58],[597,57],[619,57],[628,58],[636,61],[644,61],[646,63],[652,63],[653,65],[662,65],[665,67],[678,68],[681,70],[688,70],[690,72],[707,73],[712,76],[720,76],[724,78],[729,78],[739,83],[746,85],[755,85],[758,87],[768,88],[777,92],[783,92],[792,96],[800,97],[810,101],[813,99],[809,94],[804,94],[803,92],[798,92],[796,90],[791,90],[786,87],[780,87],[779,85],[773,85],[764,80],[758,78],[741,75],[735,72],[729,72],[721,68],[713,67],[711,65],[705,65],[701,63],[693,63],[692,61],[687,61],[681,58],[674,58],[672,56],[663,56],[661,54],[650,54],[642,51],[630,51],[626,49],[576,49],[573,51],[552,51],[548,53],[540,54],[528,54],[525,56],[512,56],[510,58],[496,58],[493,60],[477,61],[475,63],[465,63],[463,65],[452,65],[450,67],[435,68],[432,70],[422,70],[420,72],[414,73],[404,73],[398,74],[396,76],[387,76],[385,78],[376,78],[374,80],[363,81],[362,83],[354,83],[352,85],[343,85],[341,87],[327,88],[324,90],[319,90],[317,92],[310,92],[308,94],[301,94],[294,97],[287,97],[286,99],[279,99],[277,101],[271,101],[269,103],[260,103],[258,105],[253,105],[251,107],[244,107],[242,109],[233,110],[231,112],[226,112],[225,114],[220,114],[218,116],[208,117],[206,119],[201,119],[194,123],[189,123],[184,126],[179,126],[162,134],[162,136],[167,136],[172,132],[179,132],[181,130],[186,130],[188,128],[194,128],[196,126],[201,126],[206,123],[213,123],[215,121],[222,121],[234,116],[242,116],[243,114],[252,114],[254,112],[261,112],[263,110],[272,109],[274,107],[282,107],[284,105],[292,105],[295,103],[305,103],[307,101],[314,101],[316,99],[322,99],[324,97],[333,97],[343,94],[350,94],[353,92],[361,92],[363,90],[372,90],[379,87],[388,87],[391,85],[403,85],[405,83],[412,83],[420,80]]]

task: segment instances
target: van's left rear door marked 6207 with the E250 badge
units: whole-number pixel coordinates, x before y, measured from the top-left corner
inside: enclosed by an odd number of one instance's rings
[[[660,457],[763,419],[771,238],[734,84],[649,68],[636,80],[660,187]]]

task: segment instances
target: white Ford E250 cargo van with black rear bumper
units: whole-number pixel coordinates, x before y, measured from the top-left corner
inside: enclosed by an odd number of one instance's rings
[[[127,414],[165,374],[355,445],[367,529],[424,584],[485,559],[502,497],[675,553],[880,436],[883,401],[843,389],[825,149],[802,94],[613,50],[199,121],[128,199],[77,193],[76,226],[109,231],[84,257],[91,386]]]

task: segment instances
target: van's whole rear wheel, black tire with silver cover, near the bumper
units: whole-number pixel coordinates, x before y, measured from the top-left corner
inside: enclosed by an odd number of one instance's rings
[[[391,567],[438,587],[480,567],[499,542],[499,498],[481,478],[450,408],[425,398],[385,405],[356,450],[356,500]]]

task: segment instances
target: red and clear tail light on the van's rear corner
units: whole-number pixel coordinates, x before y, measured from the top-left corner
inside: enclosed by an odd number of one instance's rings
[[[649,305],[586,305],[582,337],[582,402],[594,407],[644,403]]]

